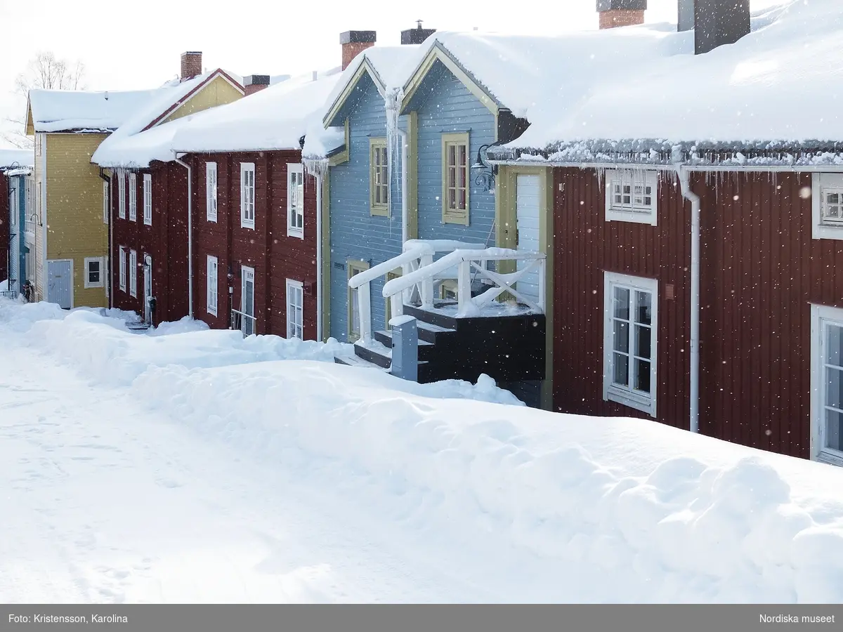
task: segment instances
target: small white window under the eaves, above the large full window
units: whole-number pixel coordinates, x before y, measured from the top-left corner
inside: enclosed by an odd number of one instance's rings
[[[642,169],[606,172],[606,221],[656,226],[658,175]]]

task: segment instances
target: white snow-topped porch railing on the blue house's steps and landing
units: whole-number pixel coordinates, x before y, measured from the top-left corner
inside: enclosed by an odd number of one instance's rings
[[[448,252],[434,261],[439,252]],[[545,254],[514,249],[484,248],[478,244],[451,241],[411,240],[405,251],[397,257],[375,265],[352,276],[349,287],[357,288],[360,310],[360,340],[372,340],[371,283],[400,267],[402,275],[387,281],[384,298],[390,302],[392,316],[404,313],[405,304],[420,305],[422,309],[434,307],[434,289],[443,281],[457,281],[457,318],[481,315],[482,309],[502,293],[508,292],[519,303],[538,313],[545,313]],[[521,261],[523,267],[512,273],[502,274],[487,270],[489,261]],[[516,284],[532,273],[538,273],[538,297],[518,292]],[[471,296],[472,279],[480,278],[490,286],[476,297]]]

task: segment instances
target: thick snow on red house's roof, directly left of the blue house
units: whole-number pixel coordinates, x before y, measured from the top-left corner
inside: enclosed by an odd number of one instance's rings
[[[299,149],[302,137],[311,147],[331,149],[331,143],[341,144],[342,136],[325,130],[321,115],[325,98],[340,77],[339,68],[319,72],[315,80],[311,72],[209,110],[176,132],[173,149],[194,153]]]

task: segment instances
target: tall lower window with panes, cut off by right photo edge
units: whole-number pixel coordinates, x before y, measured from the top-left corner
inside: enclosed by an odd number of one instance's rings
[[[811,306],[811,458],[843,465],[843,309]]]

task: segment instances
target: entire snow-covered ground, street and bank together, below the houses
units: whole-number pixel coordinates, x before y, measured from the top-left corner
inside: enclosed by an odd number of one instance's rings
[[[843,470],[0,299],[0,601],[843,601]]]

